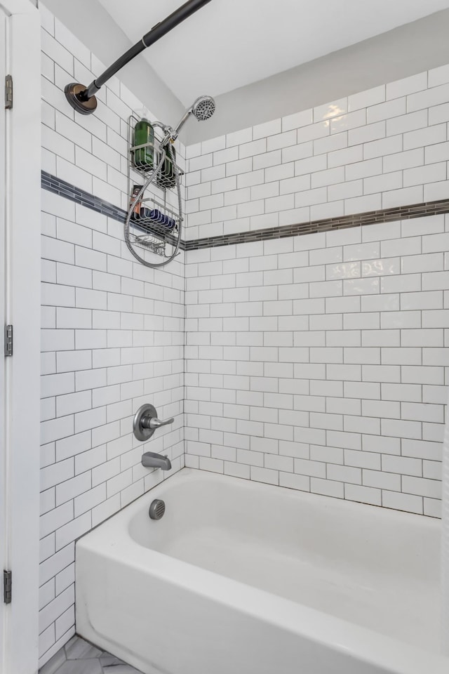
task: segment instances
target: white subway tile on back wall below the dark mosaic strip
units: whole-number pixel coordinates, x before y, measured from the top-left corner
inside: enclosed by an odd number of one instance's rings
[[[188,251],[186,465],[440,516],[449,216]]]

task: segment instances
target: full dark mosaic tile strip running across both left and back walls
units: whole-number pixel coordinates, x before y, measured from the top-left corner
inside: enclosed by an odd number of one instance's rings
[[[56,176],[52,176],[51,173],[46,173],[46,171],[42,171],[41,173],[41,185],[44,190],[60,194],[61,197],[75,201],[76,204],[86,206],[88,209],[102,213],[109,218],[114,218],[114,220],[118,220],[121,223],[126,218],[126,212],[123,209],[119,209],[118,206],[114,206],[109,201],[99,199],[93,194],[81,190],[79,187],[66,183],[65,180],[56,178]],[[302,234],[344,230],[348,227],[361,227],[362,225],[373,225],[375,223],[389,223],[394,220],[410,220],[424,216],[436,216],[439,213],[449,213],[449,198],[439,199],[438,201],[426,201],[423,204],[395,206],[392,209],[382,209],[380,211],[354,213],[351,216],[313,220],[308,223],[283,225],[283,227],[267,227],[263,230],[222,234],[217,237],[206,237],[203,239],[191,239],[189,241],[182,241],[180,249],[184,251],[197,251],[203,248],[246,244],[253,241],[266,241],[267,239],[283,239],[284,237],[297,237]]]

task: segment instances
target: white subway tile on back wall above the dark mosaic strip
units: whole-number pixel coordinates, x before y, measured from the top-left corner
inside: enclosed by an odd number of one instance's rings
[[[187,147],[187,238],[447,199],[448,72]]]

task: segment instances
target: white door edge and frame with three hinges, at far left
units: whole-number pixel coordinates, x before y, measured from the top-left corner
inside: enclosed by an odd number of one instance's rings
[[[0,0],[0,674],[38,668],[39,36],[32,2]],[[6,74],[12,110],[4,108]],[[6,323],[14,325],[13,357],[4,357]],[[13,574],[8,605],[4,569]]]

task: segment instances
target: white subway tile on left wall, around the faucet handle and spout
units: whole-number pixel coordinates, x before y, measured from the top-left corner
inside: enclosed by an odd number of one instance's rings
[[[142,104],[114,78],[95,115],[74,113],[65,84],[104,69],[40,9],[43,170],[126,209],[126,122]],[[74,634],[75,539],[166,477],[142,451],[184,465],[185,305],[183,253],[150,270],[123,223],[46,190],[42,210],[41,665]],[[150,445],[131,432],[144,402],[175,417]]]

